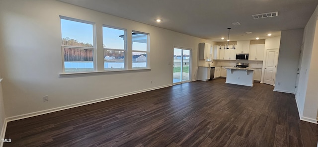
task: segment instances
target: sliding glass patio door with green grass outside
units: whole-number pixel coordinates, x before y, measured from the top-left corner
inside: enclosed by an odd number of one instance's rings
[[[174,48],[173,53],[173,84],[190,81],[191,50]]]

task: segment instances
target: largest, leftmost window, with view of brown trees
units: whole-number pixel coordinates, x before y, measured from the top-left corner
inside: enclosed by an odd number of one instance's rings
[[[95,71],[94,23],[60,16],[63,73]]]

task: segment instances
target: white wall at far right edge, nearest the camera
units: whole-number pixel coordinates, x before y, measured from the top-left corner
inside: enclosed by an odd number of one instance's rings
[[[304,51],[296,102],[300,118],[317,123],[318,110],[318,6],[308,21],[303,37]]]

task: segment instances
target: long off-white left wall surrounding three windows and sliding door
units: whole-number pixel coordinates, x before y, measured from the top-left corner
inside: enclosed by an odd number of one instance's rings
[[[95,22],[97,52],[102,52],[102,24],[150,33],[151,70],[60,78],[59,15]],[[192,49],[195,80],[198,44],[213,43],[56,0],[1,0],[0,39],[7,117],[170,86],[174,46]],[[43,95],[48,95],[48,102],[42,101]]]

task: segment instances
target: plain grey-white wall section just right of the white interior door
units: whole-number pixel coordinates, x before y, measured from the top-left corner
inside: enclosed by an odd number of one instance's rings
[[[304,29],[281,32],[274,91],[295,93],[299,53]]]

